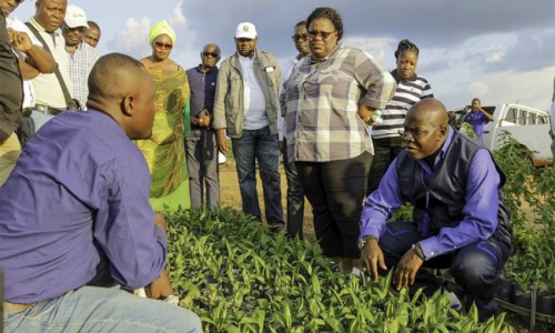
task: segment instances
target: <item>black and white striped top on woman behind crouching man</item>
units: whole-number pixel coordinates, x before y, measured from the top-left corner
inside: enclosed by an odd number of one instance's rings
[[[391,72],[397,78],[397,70]],[[398,130],[403,130],[406,112],[412,105],[423,99],[433,98],[432,87],[423,77],[414,73],[408,80],[397,79],[395,94],[382,110],[383,123],[372,129],[373,139],[398,137]]]

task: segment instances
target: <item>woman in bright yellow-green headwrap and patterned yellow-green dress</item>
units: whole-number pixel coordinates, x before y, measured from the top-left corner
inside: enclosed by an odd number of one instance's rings
[[[190,206],[189,175],[183,143],[183,117],[189,107],[189,81],[181,65],[170,59],[175,32],[167,21],[154,24],[149,42],[152,56],[141,59],[154,79],[157,113],[152,137],[137,141],[152,176],[150,201],[155,211]]]

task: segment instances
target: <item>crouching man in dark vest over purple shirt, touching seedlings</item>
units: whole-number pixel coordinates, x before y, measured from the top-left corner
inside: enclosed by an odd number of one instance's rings
[[[424,278],[421,266],[448,268],[466,294],[466,309],[475,302],[486,320],[497,313],[495,286],[511,249],[505,175],[487,149],[448,125],[438,100],[414,104],[401,137],[406,149],[364,204],[362,260],[376,282],[396,265],[397,290],[414,291],[415,278]],[[386,223],[405,202],[414,205],[414,221]]]

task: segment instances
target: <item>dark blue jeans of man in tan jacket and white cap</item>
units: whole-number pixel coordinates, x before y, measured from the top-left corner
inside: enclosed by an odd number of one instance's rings
[[[280,149],[278,134],[271,134],[270,128],[244,130],[240,139],[232,139],[233,155],[236,162],[239,189],[243,202],[243,212],[262,221],[256,193],[256,165],[264,191],[264,205],[268,224],[283,224],[281,203]]]

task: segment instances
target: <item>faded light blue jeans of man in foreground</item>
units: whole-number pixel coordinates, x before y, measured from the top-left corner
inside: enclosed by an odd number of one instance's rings
[[[6,316],[6,314],[4,314]],[[82,286],[6,316],[4,333],[202,332],[196,314],[118,287]]]

